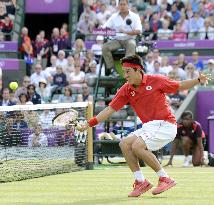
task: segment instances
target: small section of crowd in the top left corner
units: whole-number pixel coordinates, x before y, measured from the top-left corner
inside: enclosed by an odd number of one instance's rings
[[[0,41],[11,40],[15,11],[16,0],[2,0],[0,2]]]

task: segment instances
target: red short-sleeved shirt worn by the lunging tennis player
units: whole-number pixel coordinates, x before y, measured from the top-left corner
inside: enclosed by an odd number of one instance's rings
[[[177,81],[162,75],[143,75],[138,88],[125,83],[110,102],[110,106],[118,111],[124,105],[130,104],[143,123],[152,120],[165,120],[176,124],[166,93],[176,93],[179,88]]]

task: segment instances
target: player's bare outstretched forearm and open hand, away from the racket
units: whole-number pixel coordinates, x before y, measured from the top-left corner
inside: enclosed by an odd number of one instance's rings
[[[200,73],[198,78],[192,79],[192,80],[184,80],[180,82],[179,90],[188,90],[195,85],[198,84],[207,84],[208,80],[210,80],[210,75],[209,74],[203,74]]]

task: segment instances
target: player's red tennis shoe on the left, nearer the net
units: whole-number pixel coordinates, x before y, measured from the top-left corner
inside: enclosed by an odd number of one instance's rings
[[[138,197],[141,194],[147,192],[149,189],[152,188],[152,184],[148,180],[144,180],[143,182],[139,182],[135,180],[133,184],[133,191],[129,193],[129,197]]]

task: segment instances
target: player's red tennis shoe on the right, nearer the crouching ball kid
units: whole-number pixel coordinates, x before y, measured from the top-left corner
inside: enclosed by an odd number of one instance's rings
[[[172,188],[175,185],[176,185],[176,181],[174,181],[173,179],[170,179],[169,177],[160,177],[158,186],[152,190],[152,194],[153,195],[160,194]]]

